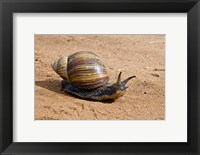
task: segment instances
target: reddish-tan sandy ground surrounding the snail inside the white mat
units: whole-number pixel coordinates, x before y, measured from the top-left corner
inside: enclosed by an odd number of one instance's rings
[[[115,102],[88,101],[61,90],[50,64],[77,51],[93,51],[115,82],[136,78]],[[35,35],[36,120],[165,119],[165,35]]]

